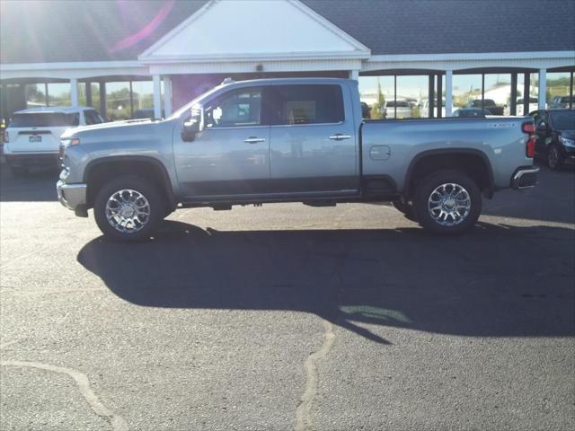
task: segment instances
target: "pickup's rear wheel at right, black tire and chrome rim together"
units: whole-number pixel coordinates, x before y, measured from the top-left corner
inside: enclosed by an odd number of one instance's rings
[[[442,234],[464,233],[482,212],[481,190],[459,171],[434,172],[415,189],[415,214],[425,229]]]

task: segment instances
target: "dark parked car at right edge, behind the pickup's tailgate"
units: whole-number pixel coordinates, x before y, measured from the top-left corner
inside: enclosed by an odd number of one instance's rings
[[[535,155],[551,169],[575,163],[575,110],[535,110],[529,114],[537,134]]]

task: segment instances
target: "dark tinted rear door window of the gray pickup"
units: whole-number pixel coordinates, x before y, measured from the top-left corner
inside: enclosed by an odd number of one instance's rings
[[[339,123],[344,120],[341,86],[271,86],[270,116],[274,125]]]

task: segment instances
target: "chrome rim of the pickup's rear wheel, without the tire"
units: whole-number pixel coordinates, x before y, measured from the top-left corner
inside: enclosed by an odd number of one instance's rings
[[[447,182],[434,189],[429,195],[429,216],[442,226],[461,224],[471,210],[471,198],[459,184]]]

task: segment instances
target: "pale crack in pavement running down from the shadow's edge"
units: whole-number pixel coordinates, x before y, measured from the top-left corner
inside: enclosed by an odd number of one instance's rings
[[[332,349],[335,333],[331,321],[322,319],[323,324],[323,343],[319,350],[307,356],[305,359],[305,391],[296,409],[296,427],[295,431],[305,431],[311,429],[310,413],[314,406],[314,399],[317,395],[318,372],[317,363],[325,357]]]

